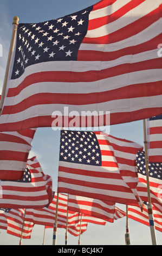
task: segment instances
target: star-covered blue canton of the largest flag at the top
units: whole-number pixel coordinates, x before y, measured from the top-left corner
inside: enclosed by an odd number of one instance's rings
[[[20,77],[27,66],[36,63],[77,60],[92,9],[93,6],[46,22],[20,23],[11,79]]]

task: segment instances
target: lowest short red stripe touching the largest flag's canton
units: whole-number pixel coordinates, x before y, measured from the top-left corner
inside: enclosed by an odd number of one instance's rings
[[[77,60],[81,61],[110,61],[122,56],[135,55],[141,52],[151,51],[157,48],[161,40],[161,34],[155,38],[136,46],[129,46],[112,52],[79,50]]]

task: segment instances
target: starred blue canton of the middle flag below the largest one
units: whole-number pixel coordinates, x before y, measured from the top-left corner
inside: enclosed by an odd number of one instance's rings
[[[60,161],[101,166],[101,150],[95,133],[61,131]]]

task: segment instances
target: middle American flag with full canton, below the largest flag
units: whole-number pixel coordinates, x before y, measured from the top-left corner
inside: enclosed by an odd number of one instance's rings
[[[103,132],[61,131],[58,192],[140,204],[133,193],[137,186],[135,158],[140,147]]]

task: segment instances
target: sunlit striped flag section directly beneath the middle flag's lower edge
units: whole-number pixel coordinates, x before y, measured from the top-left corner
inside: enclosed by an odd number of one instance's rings
[[[68,209],[113,222],[115,203],[69,194]]]

